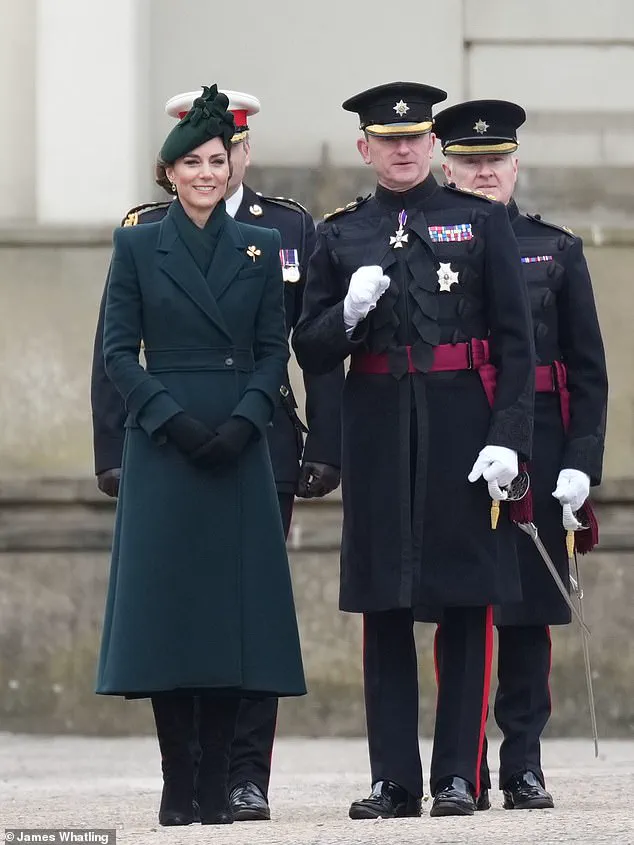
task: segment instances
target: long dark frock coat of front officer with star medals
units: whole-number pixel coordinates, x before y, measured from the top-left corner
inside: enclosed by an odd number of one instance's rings
[[[408,241],[395,248],[401,209]],[[350,277],[373,264],[390,287],[348,337]],[[493,409],[477,372],[427,372],[434,346],[471,338],[488,339],[498,368]],[[486,483],[467,480],[487,443],[520,457],[531,450],[534,348],[505,207],[430,175],[405,193],[379,187],[329,217],[318,229],[294,347],[315,373],[359,350],[389,360],[389,374],[350,372],[344,387],[341,609],[519,600],[515,529],[503,515],[491,530]]]

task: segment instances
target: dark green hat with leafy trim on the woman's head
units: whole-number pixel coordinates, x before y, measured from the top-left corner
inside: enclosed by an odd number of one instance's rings
[[[160,157],[171,164],[177,158],[195,150],[212,138],[222,138],[225,147],[231,142],[235,132],[233,114],[227,111],[229,99],[218,93],[218,86],[203,86],[203,93],[197,97],[187,112],[169,133]]]

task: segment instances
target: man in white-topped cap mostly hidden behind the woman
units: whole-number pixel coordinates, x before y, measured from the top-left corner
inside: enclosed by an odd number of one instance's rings
[[[288,331],[299,319],[304,294],[306,266],[315,244],[315,227],[310,214],[299,203],[281,197],[256,194],[243,183],[249,164],[247,119],[259,111],[255,97],[225,91],[229,109],[234,114],[231,162],[233,173],[226,196],[228,214],[240,222],[277,229],[282,239],[280,261],[285,282],[285,309]],[[180,118],[191,108],[199,91],[173,97],[166,111]],[[166,190],[160,162],[157,182]],[[132,209],[123,225],[137,225],[160,220],[170,202],[151,203]],[[92,412],[95,470],[99,488],[116,496],[120,474],[126,411],[118,391],[109,381],[103,362],[102,336],[104,300],[97,325],[92,368]],[[285,534],[291,524],[294,496],[321,497],[339,484],[341,452],[340,397],[343,367],[339,363],[324,375],[304,375],[308,433],[296,412],[296,402],[288,374],[280,385],[280,405],[269,434],[271,461],[278,491]],[[236,820],[270,818],[268,785],[271,755],[277,719],[277,699],[243,701],[232,748],[229,787]]]

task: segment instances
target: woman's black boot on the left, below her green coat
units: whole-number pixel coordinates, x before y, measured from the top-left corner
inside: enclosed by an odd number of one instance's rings
[[[163,771],[159,824],[164,826],[194,821],[193,701],[188,695],[152,696]]]

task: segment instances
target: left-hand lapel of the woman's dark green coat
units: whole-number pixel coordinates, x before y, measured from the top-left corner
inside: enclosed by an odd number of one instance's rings
[[[233,222],[233,221],[231,221]],[[227,324],[212,296],[205,277],[196,266],[189,250],[178,236],[169,214],[161,221],[157,250],[161,253],[159,267],[191,301],[207,315],[216,328],[232,341]],[[217,254],[218,250],[216,250]]]

